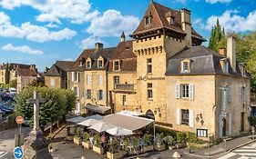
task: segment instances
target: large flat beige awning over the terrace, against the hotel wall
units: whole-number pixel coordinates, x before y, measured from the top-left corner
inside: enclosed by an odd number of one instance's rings
[[[102,121],[131,131],[138,130],[148,124],[154,123],[154,120],[152,119],[124,114],[109,114],[105,116]]]

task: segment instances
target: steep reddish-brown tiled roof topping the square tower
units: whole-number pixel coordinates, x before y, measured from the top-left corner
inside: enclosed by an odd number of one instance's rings
[[[132,35],[138,35],[142,33],[146,33],[149,31],[167,28],[169,30],[173,30],[175,32],[185,34],[184,31],[181,29],[181,14],[180,11],[171,9],[169,7],[166,7],[164,5],[159,5],[158,3],[151,1],[148,5],[148,10],[146,11],[146,14],[144,17],[152,15],[152,21],[150,25],[145,25],[144,20],[141,20],[140,24],[138,25],[138,28],[133,32]],[[166,15],[171,15],[175,17],[175,24],[169,25],[169,22],[166,19]],[[205,41],[205,39],[198,34],[192,27],[192,36],[194,38],[198,38],[201,41]]]

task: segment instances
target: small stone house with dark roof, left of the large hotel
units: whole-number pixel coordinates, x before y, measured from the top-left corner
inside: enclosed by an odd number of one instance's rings
[[[47,87],[67,89],[67,71],[74,65],[72,61],[56,61],[46,69],[45,84]]]

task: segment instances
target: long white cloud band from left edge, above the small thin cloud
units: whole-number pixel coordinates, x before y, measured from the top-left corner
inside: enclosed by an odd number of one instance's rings
[[[18,37],[26,38],[30,41],[44,43],[46,41],[60,41],[63,39],[71,39],[77,35],[77,32],[64,28],[59,31],[50,31],[44,26],[31,25],[29,22],[22,24],[21,26],[12,25],[10,17],[5,15],[4,12],[0,12],[0,36],[4,37]]]

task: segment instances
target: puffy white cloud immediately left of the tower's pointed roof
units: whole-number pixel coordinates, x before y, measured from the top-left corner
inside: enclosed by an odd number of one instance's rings
[[[119,36],[122,31],[130,34],[138,26],[138,17],[121,15],[117,10],[110,9],[91,21],[87,33],[93,36]]]

